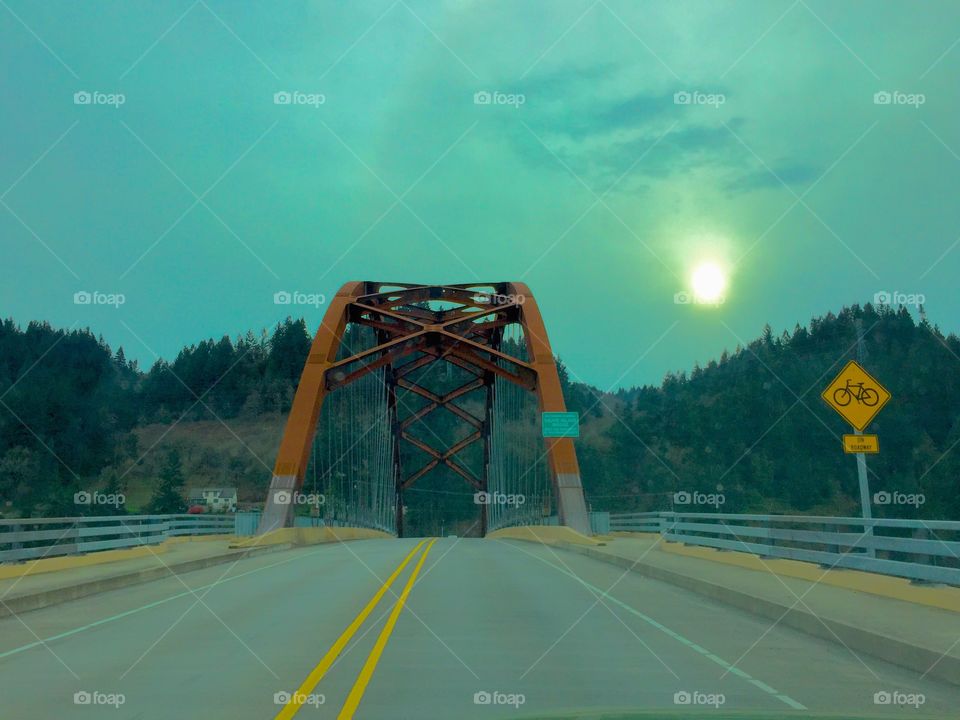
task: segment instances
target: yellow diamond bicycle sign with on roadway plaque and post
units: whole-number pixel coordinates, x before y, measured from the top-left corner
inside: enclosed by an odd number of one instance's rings
[[[844,435],[844,452],[857,456],[857,479],[860,483],[860,509],[864,519],[864,534],[873,536],[871,512],[870,480],[867,478],[867,456],[865,453],[879,452],[876,435],[864,435],[863,429],[877,416],[877,413],[890,400],[890,392],[856,361],[846,364],[833,382],[827,385],[820,397],[840,416],[853,426],[856,435]],[[849,440],[848,440],[849,438]],[[867,548],[867,555],[874,556],[873,546]]]

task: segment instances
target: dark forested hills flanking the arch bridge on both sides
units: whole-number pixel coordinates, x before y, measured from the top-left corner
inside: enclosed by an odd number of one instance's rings
[[[728,512],[856,514],[854,460],[840,444],[849,428],[819,395],[856,357],[858,321],[863,362],[893,393],[870,428],[881,443],[869,458],[872,489],[925,499],[874,512],[960,517],[960,450],[951,452],[960,445],[960,340],[906,310],[870,305],[780,336],[766,328],[659,387],[601,393],[570,382],[561,365],[569,409],[582,415],[588,502],[669,509],[675,492],[700,491],[722,493]],[[103,487],[127,491],[130,510],[166,508],[160,496],[179,484],[237,485],[241,499],[257,499],[309,343],[305,323],[288,319],[270,334],[184,348],[142,372],[88,331],[5,321],[0,510],[75,514],[74,492]],[[424,485],[436,493],[423,510],[431,522],[472,512],[434,486]],[[450,487],[450,497],[469,490]]]

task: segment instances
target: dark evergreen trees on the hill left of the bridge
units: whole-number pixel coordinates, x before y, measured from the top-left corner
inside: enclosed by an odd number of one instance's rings
[[[106,507],[78,508],[74,494],[99,488],[126,492],[131,479],[148,484],[150,497],[158,483],[169,486],[173,470],[158,464],[162,454],[156,450],[164,447],[159,440],[141,449],[146,429],[160,424],[169,432],[175,423],[286,411],[309,347],[304,321],[288,319],[269,338],[247,333],[236,341],[206,340],[143,373],[126,360],[123,348],[113,353],[89,330],[57,330],[40,322],[21,329],[4,321],[0,512],[106,514]],[[259,463],[256,469],[248,467],[249,461],[238,468],[233,456],[193,452],[189,440],[183,450],[193,461],[185,473],[190,477],[220,460],[232,479],[263,474]],[[142,504],[172,507],[169,494],[159,492]]]

